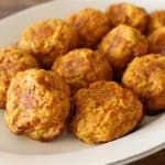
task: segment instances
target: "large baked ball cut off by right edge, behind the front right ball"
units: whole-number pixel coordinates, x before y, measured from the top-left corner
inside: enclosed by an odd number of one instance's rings
[[[122,82],[142,99],[146,110],[165,110],[165,56],[150,54],[134,58]]]

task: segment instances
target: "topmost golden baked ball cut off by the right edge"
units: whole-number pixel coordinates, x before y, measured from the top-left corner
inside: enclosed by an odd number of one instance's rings
[[[161,26],[165,26],[165,10],[154,11],[150,14],[148,33]]]

